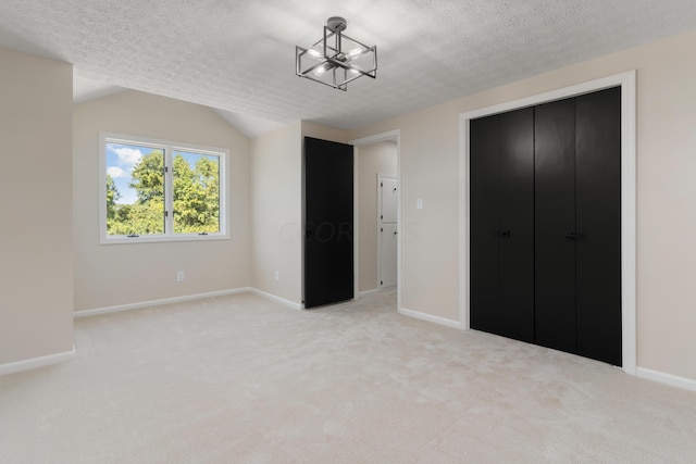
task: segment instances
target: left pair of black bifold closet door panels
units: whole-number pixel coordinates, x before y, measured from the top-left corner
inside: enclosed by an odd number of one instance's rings
[[[471,326],[534,341],[534,114],[470,122]]]

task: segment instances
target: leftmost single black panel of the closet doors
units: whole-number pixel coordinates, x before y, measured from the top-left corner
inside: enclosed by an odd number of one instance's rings
[[[498,334],[498,116],[470,122],[471,328]]]

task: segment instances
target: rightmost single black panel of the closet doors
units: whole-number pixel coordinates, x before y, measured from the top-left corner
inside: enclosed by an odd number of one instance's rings
[[[621,88],[576,114],[577,354],[621,365]]]

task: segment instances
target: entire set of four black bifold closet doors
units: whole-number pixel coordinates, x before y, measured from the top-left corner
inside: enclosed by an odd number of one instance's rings
[[[471,327],[621,365],[621,88],[470,129]]]

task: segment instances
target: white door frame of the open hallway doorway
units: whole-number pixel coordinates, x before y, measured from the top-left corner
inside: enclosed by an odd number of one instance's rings
[[[381,141],[395,141],[396,142],[396,176],[397,176],[397,205],[396,205],[396,221],[397,221],[397,258],[396,258],[396,294],[397,294],[397,310],[401,309],[401,129],[394,129],[386,133],[375,134],[373,136],[363,137],[355,140],[350,140],[348,143],[353,148],[353,268],[355,271],[355,294],[356,298],[360,294],[360,234],[356,233],[360,230],[360,209],[359,209],[359,175],[358,170],[358,150],[360,147],[366,145],[377,143]]]

